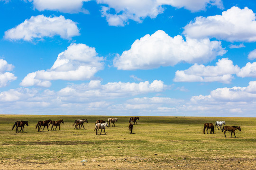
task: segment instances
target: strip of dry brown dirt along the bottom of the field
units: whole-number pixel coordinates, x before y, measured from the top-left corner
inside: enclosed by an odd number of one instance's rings
[[[81,160],[82,161],[82,160]],[[37,160],[4,160],[0,170],[255,170],[256,159],[146,159],[146,158],[108,158],[71,160],[58,163],[43,163]]]

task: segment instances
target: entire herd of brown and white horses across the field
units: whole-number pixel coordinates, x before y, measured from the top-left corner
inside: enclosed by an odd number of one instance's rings
[[[129,124],[128,124],[128,127],[129,127],[129,132],[130,134],[132,134],[132,129],[133,129],[133,125],[135,125],[135,123],[137,124],[137,120],[139,120],[139,117],[131,117],[129,119]],[[83,126],[83,123],[86,122],[88,123],[88,120],[87,119],[76,119],[74,121],[74,124],[73,126],[75,125],[74,129],[85,129],[84,126]],[[94,131],[96,130],[96,135],[99,135],[99,129],[101,129],[101,132],[102,132],[102,129],[104,129],[104,133],[106,135],[106,132],[105,132],[105,127],[110,127],[111,123],[112,123],[112,127],[114,126],[115,127],[115,122],[118,122],[118,119],[117,118],[109,118],[108,119],[108,122],[106,122],[105,120],[100,120],[98,119],[95,123],[95,128],[94,128]],[[59,130],[60,130],[60,125],[61,123],[64,123],[63,119],[60,119],[60,120],[44,120],[44,121],[38,121],[37,122],[37,126],[36,126],[36,129],[38,128],[38,132],[41,132],[41,127],[43,126],[43,131],[45,129],[45,127],[47,127],[47,130],[49,131],[48,127],[50,127],[50,125],[52,125],[51,127],[51,130],[56,130],[57,127],[59,127]],[[226,137],[226,131],[231,131],[231,137],[232,137],[232,134],[234,133],[234,136],[236,137],[235,135],[235,130],[239,130],[241,131],[241,127],[238,127],[238,126],[224,126],[222,129],[222,125],[226,125],[226,122],[225,121],[216,121],[215,122],[215,130],[217,130],[217,127],[218,127],[218,130],[221,130],[222,132],[224,131],[224,135]],[[16,126],[16,133],[17,132],[24,132],[24,126],[27,125],[28,126],[28,121],[17,121],[14,123],[13,127],[12,127],[12,130],[13,128]],[[55,129],[54,129],[54,126]],[[20,127],[20,130],[18,131],[18,127]],[[220,128],[219,128],[220,127]],[[203,133],[205,134],[205,129],[206,129],[206,132],[208,134],[208,129],[210,129],[210,134],[214,134],[214,125],[212,123],[205,123],[204,124],[204,128],[203,128]]]

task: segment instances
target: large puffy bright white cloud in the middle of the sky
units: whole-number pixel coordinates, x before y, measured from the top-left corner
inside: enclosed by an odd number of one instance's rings
[[[181,35],[174,38],[164,31],[158,30],[152,35],[145,35],[136,40],[131,49],[117,56],[114,67],[123,70],[151,69],[160,66],[174,66],[185,61],[187,63],[204,63],[225,54],[221,42],[209,39],[196,40]]]

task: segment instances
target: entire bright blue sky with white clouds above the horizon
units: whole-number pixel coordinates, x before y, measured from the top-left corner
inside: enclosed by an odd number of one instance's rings
[[[0,114],[255,117],[255,0],[0,0]]]

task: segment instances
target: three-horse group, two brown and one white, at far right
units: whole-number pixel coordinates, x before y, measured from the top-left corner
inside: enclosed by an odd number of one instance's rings
[[[236,137],[235,135],[235,130],[239,130],[241,131],[241,127],[238,127],[238,126],[224,126],[222,129],[222,125],[226,125],[226,122],[225,121],[216,121],[215,122],[215,130],[217,130],[217,127],[218,127],[218,130],[221,130],[221,132],[224,131],[224,135],[226,137],[226,131],[231,131],[231,137],[232,137],[232,134],[234,133],[234,136]],[[220,127],[220,128],[219,128]],[[214,134],[214,125],[212,123],[205,123],[204,124],[204,128],[203,128],[203,134],[205,134],[205,129],[206,129],[206,132],[208,134],[208,129],[210,128],[210,134]]]

